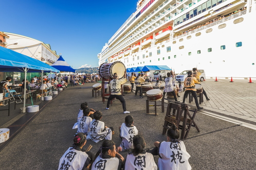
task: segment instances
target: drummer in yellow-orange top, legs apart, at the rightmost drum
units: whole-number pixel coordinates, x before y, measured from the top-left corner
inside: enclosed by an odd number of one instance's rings
[[[185,103],[186,98],[188,97],[188,94],[191,93],[195,99],[195,104],[197,109],[204,109],[203,107],[199,107],[196,89],[195,89],[195,83],[198,82],[195,77],[192,76],[192,71],[188,71],[188,77],[185,78],[184,81],[184,87],[186,88],[184,96],[183,96],[183,102]]]

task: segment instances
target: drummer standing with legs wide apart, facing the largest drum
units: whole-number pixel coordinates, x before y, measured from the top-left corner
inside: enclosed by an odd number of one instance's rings
[[[121,103],[123,105],[123,113],[130,113],[129,111],[126,110],[126,103],[125,103],[125,100],[121,93],[121,89],[122,89],[121,85],[126,82],[126,71],[124,72],[123,78],[118,79],[117,73],[114,73],[113,78],[114,79],[109,82],[111,95],[108,97],[106,109],[109,109],[109,104],[110,104],[111,100],[114,98],[117,98],[118,100],[121,101]]]

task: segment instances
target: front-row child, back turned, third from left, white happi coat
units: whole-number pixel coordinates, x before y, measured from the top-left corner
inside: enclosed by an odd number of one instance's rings
[[[126,157],[124,170],[157,170],[153,155],[144,150],[145,140],[141,135],[133,137],[133,145],[134,149]]]

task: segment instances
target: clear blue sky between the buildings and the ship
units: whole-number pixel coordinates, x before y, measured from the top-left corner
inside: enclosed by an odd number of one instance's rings
[[[98,67],[98,54],[138,0],[1,1],[0,31],[31,37],[61,54],[74,69]]]

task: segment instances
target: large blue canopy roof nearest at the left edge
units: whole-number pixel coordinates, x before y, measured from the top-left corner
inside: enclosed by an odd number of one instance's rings
[[[0,47],[0,71],[1,72],[24,72],[23,69],[27,68],[27,72],[59,72],[59,70],[47,65],[46,63],[17,53],[13,50]]]

